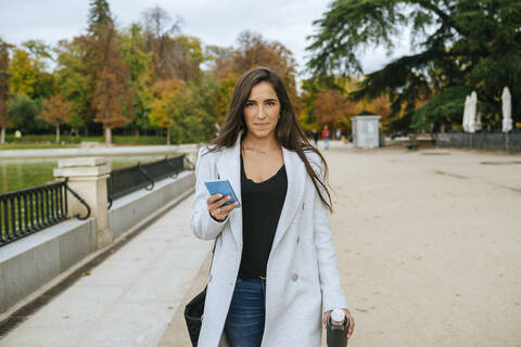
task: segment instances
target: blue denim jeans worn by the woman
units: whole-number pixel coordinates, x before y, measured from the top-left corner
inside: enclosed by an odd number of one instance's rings
[[[225,332],[231,347],[258,347],[266,312],[266,280],[237,280]]]

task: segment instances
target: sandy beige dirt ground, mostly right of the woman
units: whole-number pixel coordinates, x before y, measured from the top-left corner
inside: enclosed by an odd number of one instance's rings
[[[521,347],[521,156],[331,144],[348,346]],[[160,346],[190,346],[181,310]]]

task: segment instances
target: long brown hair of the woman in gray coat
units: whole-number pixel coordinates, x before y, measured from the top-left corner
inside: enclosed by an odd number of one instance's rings
[[[279,77],[279,75],[277,75],[276,72],[268,67],[260,66],[252,68],[245,72],[239,78],[233,90],[233,97],[230,102],[230,107],[228,108],[228,115],[225,124],[221,127],[218,137],[209,142],[208,151],[217,152],[226,147],[231,147],[236,144],[237,138],[241,131],[244,134],[247,133],[246,124],[244,121],[244,104],[250,97],[252,88],[262,81],[269,82],[274,87],[275,91],[277,92],[277,97],[279,98],[281,116],[275,129],[277,140],[284,149],[298,154],[298,157],[302,159],[302,162],[304,162],[307,175],[312,178],[313,184],[315,185],[320,200],[328,207],[328,209],[332,211],[333,208],[331,194],[327,188],[328,164],[323,159],[323,156],[320,154],[320,152],[318,152],[318,150],[309,143],[304,130],[296,120],[293,106],[291,105],[290,98],[288,97],[288,92],[285,91],[282,79]],[[320,157],[325,169],[323,182],[317,172],[312,168],[305,152],[316,153]]]

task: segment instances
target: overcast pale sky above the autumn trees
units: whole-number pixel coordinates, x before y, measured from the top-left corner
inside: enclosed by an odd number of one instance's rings
[[[0,37],[14,44],[41,39],[54,46],[85,33],[89,0],[0,0]],[[182,18],[181,30],[195,36],[204,44],[236,46],[242,30],[260,33],[265,39],[277,40],[289,48],[305,72],[306,36],[315,30],[312,23],[328,10],[330,0],[109,0],[118,27],[127,27],[142,18],[145,9],[158,4],[173,18]],[[407,52],[396,49],[393,56]],[[383,49],[363,55],[366,73],[381,68],[393,56]]]

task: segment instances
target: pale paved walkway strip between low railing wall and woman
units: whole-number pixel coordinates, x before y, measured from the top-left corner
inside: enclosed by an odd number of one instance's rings
[[[212,247],[189,229],[191,197],[85,273],[0,346],[156,346]]]

